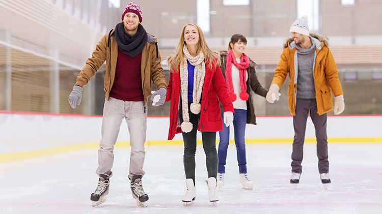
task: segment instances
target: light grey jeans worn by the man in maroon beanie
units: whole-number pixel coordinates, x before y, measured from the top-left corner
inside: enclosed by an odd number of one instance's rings
[[[122,120],[125,119],[130,135],[129,179],[144,175],[147,106],[143,101],[130,102],[109,98],[105,100],[102,117],[101,141],[98,149],[98,175],[112,176],[114,145],[116,144]]]

